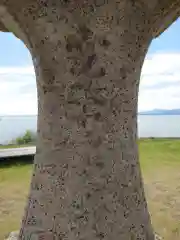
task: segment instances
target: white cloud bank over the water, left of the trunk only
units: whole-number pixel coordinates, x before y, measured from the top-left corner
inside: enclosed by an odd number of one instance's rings
[[[37,113],[33,67],[0,67],[0,115]]]

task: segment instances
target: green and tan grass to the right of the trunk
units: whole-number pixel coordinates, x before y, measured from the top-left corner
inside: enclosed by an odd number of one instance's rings
[[[140,140],[140,164],[154,229],[180,239],[180,140]]]

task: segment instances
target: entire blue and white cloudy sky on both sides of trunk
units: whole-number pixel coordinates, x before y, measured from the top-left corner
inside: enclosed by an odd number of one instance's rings
[[[141,74],[139,111],[180,108],[180,19],[153,40]],[[37,114],[35,74],[23,43],[0,32],[0,115]]]

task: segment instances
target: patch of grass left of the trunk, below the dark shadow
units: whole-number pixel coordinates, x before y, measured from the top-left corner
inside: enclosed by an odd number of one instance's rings
[[[31,170],[31,164],[0,165],[0,240],[20,226]]]

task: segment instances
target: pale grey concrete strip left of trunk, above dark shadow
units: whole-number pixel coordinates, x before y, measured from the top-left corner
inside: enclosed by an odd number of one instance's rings
[[[36,147],[7,148],[0,149],[0,158],[28,156],[35,153]]]

